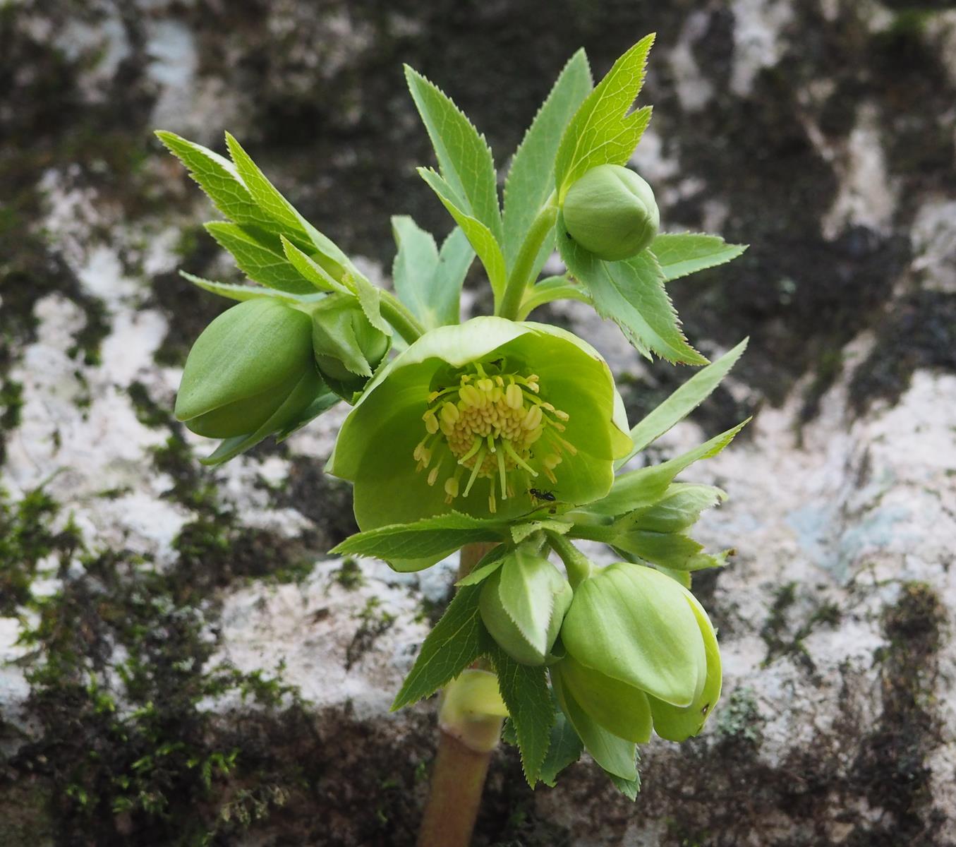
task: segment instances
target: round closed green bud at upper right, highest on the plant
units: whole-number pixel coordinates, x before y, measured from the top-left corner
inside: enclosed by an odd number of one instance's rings
[[[577,244],[608,262],[641,252],[661,226],[651,186],[619,164],[600,164],[584,174],[568,190],[563,214]]]

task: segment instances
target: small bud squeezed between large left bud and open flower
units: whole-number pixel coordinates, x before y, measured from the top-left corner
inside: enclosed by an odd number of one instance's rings
[[[350,400],[372,378],[391,339],[372,326],[352,294],[323,297],[310,313],[318,371],[337,395]]]

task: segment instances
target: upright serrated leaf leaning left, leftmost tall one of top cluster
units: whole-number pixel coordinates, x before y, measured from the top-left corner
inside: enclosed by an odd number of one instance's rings
[[[445,93],[405,65],[408,90],[422,116],[445,183],[462,211],[480,221],[501,242],[494,160],[485,137]],[[464,228],[464,227],[463,227]]]

